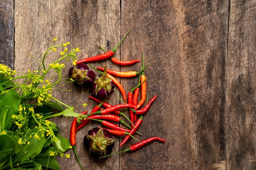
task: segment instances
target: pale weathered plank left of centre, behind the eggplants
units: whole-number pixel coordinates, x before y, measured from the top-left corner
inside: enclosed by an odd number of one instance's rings
[[[29,57],[29,53],[39,60],[40,54],[47,50],[53,38],[58,39],[57,43],[70,42],[69,49],[80,47],[82,51],[77,54],[79,59],[103,53],[99,49],[99,45],[106,49],[112,49],[120,40],[120,19],[120,6],[117,0],[15,1],[15,68],[17,72],[28,69],[36,70],[40,63]],[[108,48],[106,44],[109,44]],[[116,53],[119,55],[120,49],[117,49]],[[54,62],[57,57],[58,54],[49,55],[45,59],[46,66]],[[91,64],[94,67],[100,66],[99,64],[107,64],[113,69],[117,68],[109,60]],[[63,70],[63,78],[67,77],[70,67],[71,62],[67,62],[66,68]],[[97,74],[97,77],[99,76]],[[78,107],[76,112],[90,111],[96,106],[95,102],[88,99],[88,94],[91,94],[89,88],[77,88],[65,82],[60,87],[72,90],[72,92],[54,90],[54,97],[65,104],[70,106],[88,104],[87,108]],[[119,96],[119,91],[115,91],[115,93]],[[110,97],[108,101],[115,104],[119,102],[119,99]],[[60,133],[69,139],[72,119],[60,117],[54,121],[58,122]],[[85,152],[83,137],[94,126],[100,126],[100,124],[89,124],[76,136],[76,149],[83,166],[88,170],[102,169],[101,167],[118,169],[118,161],[110,159],[108,162],[97,163],[89,158],[88,152]],[[118,147],[113,148],[113,152],[117,151]],[[71,154],[68,160],[58,157],[61,169],[80,169],[74,152],[70,150],[68,153]]]

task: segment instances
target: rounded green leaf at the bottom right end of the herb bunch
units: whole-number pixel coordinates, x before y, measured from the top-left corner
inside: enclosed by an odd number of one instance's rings
[[[37,155],[34,158],[34,161],[46,168],[51,168],[53,170],[61,170],[61,167],[58,165],[57,160],[54,159],[54,157],[49,156],[47,154]]]

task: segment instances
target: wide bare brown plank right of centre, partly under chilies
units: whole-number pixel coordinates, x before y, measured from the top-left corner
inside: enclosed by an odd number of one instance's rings
[[[145,64],[154,62],[146,70],[148,97],[158,97],[138,138],[167,140],[121,154],[121,170],[225,169],[228,7],[220,0],[121,2],[122,33],[131,28],[121,59],[144,52]],[[131,88],[136,81],[123,83]]]

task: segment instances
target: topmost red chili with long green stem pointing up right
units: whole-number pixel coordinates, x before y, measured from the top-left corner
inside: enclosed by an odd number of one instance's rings
[[[124,38],[126,38],[126,36],[128,35],[128,33],[130,32],[130,29],[128,30],[128,32],[126,33],[126,35],[124,35]],[[99,61],[99,60],[105,60],[111,56],[113,56],[117,50],[117,47],[121,44],[121,42],[124,40],[124,38],[122,38],[122,40],[117,44],[117,46],[115,46],[114,49],[106,52],[106,53],[103,53],[103,54],[100,54],[100,55],[96,55],[94,57],[88,57],[88,58],[84,58],[82,60],[79,60],[78,62],[76,62],[76,65],[77,64],[81,64],[81,63],[87,63],[87,62],[95,62],[95,61]]]

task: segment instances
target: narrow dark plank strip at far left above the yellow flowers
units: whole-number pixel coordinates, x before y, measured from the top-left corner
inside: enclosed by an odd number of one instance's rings
[[[13,9],[13,0],[0,3],[0,63],[11,69],[14,64]]]

